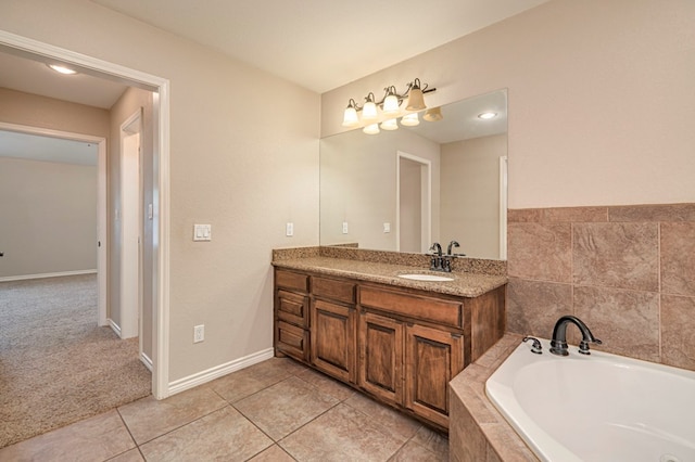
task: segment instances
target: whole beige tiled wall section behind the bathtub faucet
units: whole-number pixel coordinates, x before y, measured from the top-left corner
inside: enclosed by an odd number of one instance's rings
[[[695,370],[694,255],[695,204],[511,209],[507,330],[574,315],[596,349]]]

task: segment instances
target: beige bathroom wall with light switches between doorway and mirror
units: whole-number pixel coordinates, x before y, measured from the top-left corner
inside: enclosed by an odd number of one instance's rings
[[[318,243],[319,95],[84,0],[3,1],[0,29],[170,80],[169,381],[270,348],[270,249]]]

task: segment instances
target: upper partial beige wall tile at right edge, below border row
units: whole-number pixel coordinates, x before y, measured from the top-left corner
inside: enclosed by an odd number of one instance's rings
[[[695,221],[661,223],[661,292],[695,296]]]

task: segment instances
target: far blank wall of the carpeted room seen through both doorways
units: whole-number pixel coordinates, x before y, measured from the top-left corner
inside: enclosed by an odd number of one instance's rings
[[[97,269],[96,166],[0,157],[0,278]]]

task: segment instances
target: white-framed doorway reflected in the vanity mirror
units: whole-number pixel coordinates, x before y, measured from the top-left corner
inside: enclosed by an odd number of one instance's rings
[[[399,152],[396,170],[396,251],[426,253],[431,236],[431,163]]]

